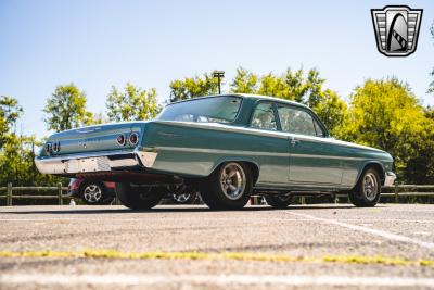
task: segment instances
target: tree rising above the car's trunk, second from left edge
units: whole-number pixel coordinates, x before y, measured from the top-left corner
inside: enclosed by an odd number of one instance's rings
[[[43,109],[49,130],[62,131],[86,125],[92,113],[86,111],[86,94],[74,84],[58,86]]]

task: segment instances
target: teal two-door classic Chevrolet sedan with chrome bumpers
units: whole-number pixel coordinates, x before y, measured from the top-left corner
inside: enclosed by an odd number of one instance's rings
[[[307,106],[224,94],[167,105],[154,121],[98,125],[50,136],[41,173],[116,181],[123,204],[151,209],[168,190],[200,190],[212,209],[241,209],[252,193],[275,207],[294,194],[348,192],[374,206],[392,185],[393,159],[333,139]]]

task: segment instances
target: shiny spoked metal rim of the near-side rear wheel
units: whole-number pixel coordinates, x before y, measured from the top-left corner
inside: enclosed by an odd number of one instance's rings
[[[221,169],[220,188],[230,200],[238,200],[243,196],[246,186],[245,173],[238,163],[228,163]]]

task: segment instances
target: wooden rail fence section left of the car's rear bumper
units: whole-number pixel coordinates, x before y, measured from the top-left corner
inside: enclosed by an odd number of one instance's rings
[[[63,199],[69,198],[63,194],[66,190],[67,187],[63,187],[62,184],[55,187],[12,187],[12,184],[8,184],[7,187],[0,187],[0,192],[5,191],[5,194],[0,194],[0,199],[7,199],[7,206],[12,206],[13,199],[58,199],[59,205],[63,205]],[[56,194],[14,194],[23,191],[54,191]]]

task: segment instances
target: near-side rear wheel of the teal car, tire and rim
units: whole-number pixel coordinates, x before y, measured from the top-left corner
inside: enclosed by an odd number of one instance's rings
[[[227,162],[218,166],[201,187],[202,200],[209,209],[239,210],[251,197],[252,172],[241,162]]]

